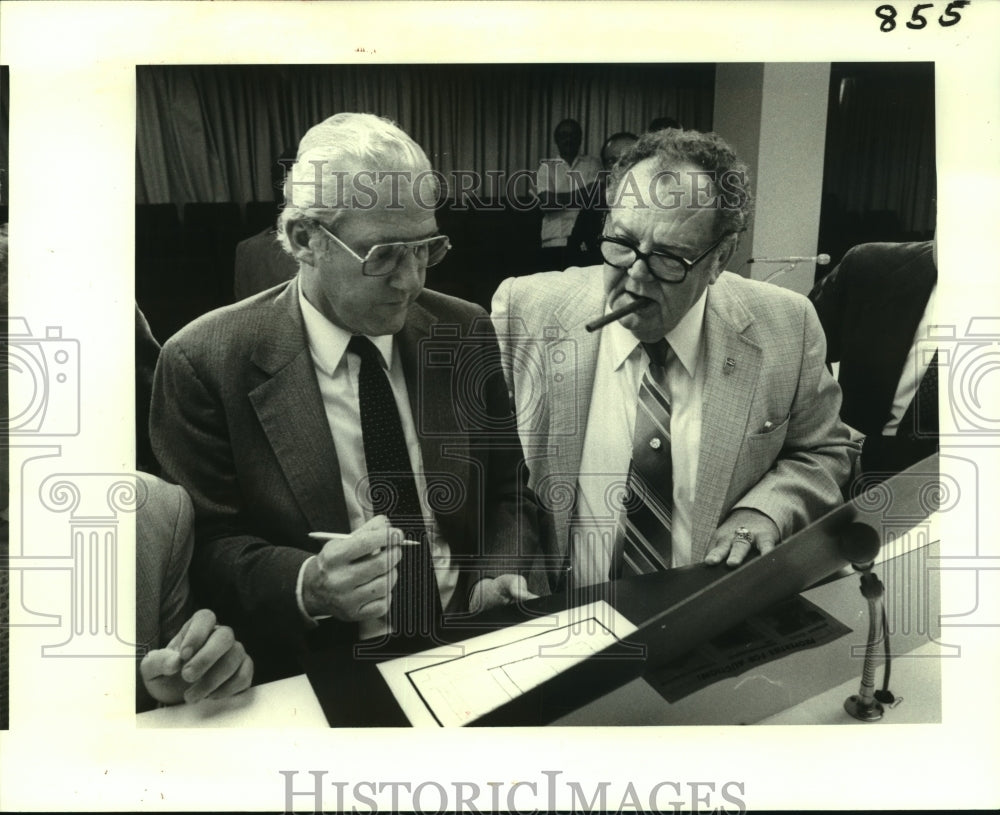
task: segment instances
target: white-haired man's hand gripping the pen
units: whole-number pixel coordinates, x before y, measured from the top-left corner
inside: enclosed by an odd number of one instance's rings
[[[388,614],[404,545],[402,531],[390,526],[385,515],[376,515],[344,538],[327,541],[303,575],[306,611],[346,622]]]

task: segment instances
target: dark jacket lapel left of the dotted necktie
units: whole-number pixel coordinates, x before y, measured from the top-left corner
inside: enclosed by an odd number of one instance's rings
[[[249,396],[302,514],[313,529],[349,531],[340,465],[292,283],[262,327],[252,361],[265,375]]]

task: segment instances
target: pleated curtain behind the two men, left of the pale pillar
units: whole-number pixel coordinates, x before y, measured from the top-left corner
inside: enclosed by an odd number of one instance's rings
[[[270,201],[271,167],[339,111],[396,121],[451,178],[472,172],[482,198],[556,155],[563,118],[597,155],[621,130],[658,116],[711,129],[712,65],[324,65],[137,68],[136,202]],[[523,194],[522,189],[517,190]]]

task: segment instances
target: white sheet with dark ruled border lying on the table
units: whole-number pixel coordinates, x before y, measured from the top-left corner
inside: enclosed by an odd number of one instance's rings
[[[460,727],[633,633],[603,600],[381,663],[415,727]]]

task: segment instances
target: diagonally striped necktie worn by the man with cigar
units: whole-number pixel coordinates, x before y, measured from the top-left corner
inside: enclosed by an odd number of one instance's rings
[[[639,385],[632,461],[629,464],[611,579],[670,568],[673,468],[670,461],[670,400],[666,340],[643,344],[649,367]]]

